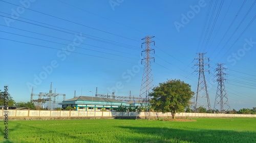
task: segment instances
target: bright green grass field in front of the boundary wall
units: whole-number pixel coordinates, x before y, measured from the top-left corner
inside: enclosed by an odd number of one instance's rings
[[[1,142],[256,142],[256,118],[9,121]]]

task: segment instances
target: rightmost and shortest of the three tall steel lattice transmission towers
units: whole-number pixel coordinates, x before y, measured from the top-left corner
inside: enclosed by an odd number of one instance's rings
[[[224,64],[217,64],[218,68],[216,71],[218,72],[216,76],[218,77],[216,81],[218,81],[218,87],[216,92],[216,98],[214,103],[214,110],[217,110],[217,106],[220,105],[220,112],[225,113],[227,110],[230,109],[227,93],[225,90],[225,84],[224,81],[226,80],[224,76],[226,73],[224,73],[224,70],[227,70],[227,68],[224,68]],[[226,109],[225,109],[226,108]]]

